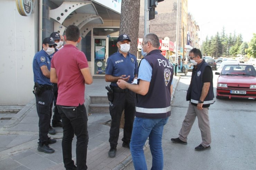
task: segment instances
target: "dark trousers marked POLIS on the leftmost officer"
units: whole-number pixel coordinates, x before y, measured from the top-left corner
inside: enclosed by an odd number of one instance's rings
[[[53,107],[53,90],[45,90],[36,97],[36,110],[39,117],[39,143],[48,144],[49,122]]]

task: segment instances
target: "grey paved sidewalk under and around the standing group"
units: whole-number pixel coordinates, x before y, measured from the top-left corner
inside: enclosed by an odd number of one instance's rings
[[[173,94],[180,76],[173,78]],[[103,78],[93,78],[93,83],[85,87],[85,106],[88,111],[90,96],[107,96],[105,86],[110,83]],[[173,97],[172,97],[173,98]],[[0,112],[15,110],[10,106],[0,106]],[[121,170],[131,161],[130,150],[122,147],[123,130],[120,129],[116,158],[109,158],[109,129],[105,125],[111,120],[109,113],[89,113],[88,132],[89,143],[87,152],[88,170]],[[49,137],[57,139],[50,146],[55,149],[52,154],[37,151],[38,116],[35,99],[24,106],[18,113],[0,128],[0,169],[1,170],[64,170],[62,158],[62,128],[54,128],[55,135]],[[145,148],[148,147],[148,141]],[[72,155],[75,160],[76,137],[72,142]]]

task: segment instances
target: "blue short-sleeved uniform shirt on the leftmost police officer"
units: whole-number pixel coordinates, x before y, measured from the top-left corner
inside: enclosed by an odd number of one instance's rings
[[[51,69],[51,61],[49,55],[44,50],[37,52],[33,59],[34,82],[39,84],[52,85],[50,79],[44,76],[40,68],[42,66],[47,66],[48,70]]]

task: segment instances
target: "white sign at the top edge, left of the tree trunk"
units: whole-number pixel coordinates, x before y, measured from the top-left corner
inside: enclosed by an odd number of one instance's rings
[[[121,14],[122,0],[92,0],[92,1],[111,9],[112,11],[116,11],[119,14]]]

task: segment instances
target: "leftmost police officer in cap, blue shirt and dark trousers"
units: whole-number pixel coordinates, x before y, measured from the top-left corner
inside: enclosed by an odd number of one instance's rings
[[[39,152],[53,153],[54,149],[48,144],[56,143],[56,139],[48,137],[49,122],[53,106],[53,86],[50,82],[50,55],[54,53],[57,44],[52,37],[43,40],[43,49],[35,54],[33,59],[34,94],[36,97],[36,109],[39,117]]]

